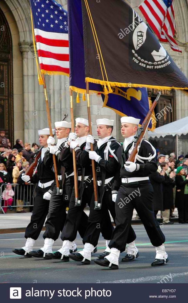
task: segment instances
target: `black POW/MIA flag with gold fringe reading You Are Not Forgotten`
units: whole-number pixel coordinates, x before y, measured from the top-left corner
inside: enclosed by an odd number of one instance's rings
[[[86,81],[118,87],[188,89],[185,75],[124,0],[81,2]]]

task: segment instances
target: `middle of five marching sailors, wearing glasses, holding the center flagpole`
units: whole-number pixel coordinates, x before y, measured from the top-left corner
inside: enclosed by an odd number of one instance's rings
[[[93,123],[92,123],[93,124]],[[75,192],[73,188],[73,193],[71,195],[71,200],[69,203],[69,210],[66,218],[66,222],[61,233],[61,240],[63,241],[62,248],[56,251],[53,254],[48,254],[54,259],[64,259],[69,261],[69,251],[71,249],[71,242],[77,236],[78,228],[83,221],[83,214],[84,208],[86,204],[90,206],[91,198],[93,195],[93,181],[92,181],[92,167],[91,167],[91,160],[88,158],[87,161],[82,159],[83,151],[90,151],[90,143],[96,145],[97,141],[93,140],[89,133],[89,122],[87,119],[84,118],[76,118],[76,127],[75,132],[77,135],[77,139],[75,141],[70,141],[65,144],[64,148],[64,157],[66,158],[68,155],[72,157],[71,149],[75,150],[76,153],[76,160],[77,160],[77,168],[78,168],[78,187],[79,187],[79,200],[80,205],[75,206]],[[70,134],[71,137],[72,134]],[[74,137],[74,135],[73,135]],[[71,137],[71,139],[73,138]],[[65,155],[66,153],[66,155]],[[87,218],[88,219],[88,218]],[[106,224],[102,229],[102,235],[104,238],[106,234],[108,236],[109,228],[111,227],[111,219],[108,211],[106,211],[105,216]],[[86,231],[87,225],[85,226]],[[85,232],[84,231],[84,232]],[[82,235],[83,238],[84,234]],[[95,248],[93,252],[96,252],[97,249]]]

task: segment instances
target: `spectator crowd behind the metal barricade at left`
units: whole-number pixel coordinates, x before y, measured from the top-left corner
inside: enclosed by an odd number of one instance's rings
[[[0,131],[0,194],[4,213],[8,208],[13,209],[13,201],[18,213],[26,212],[23,205],[27,202],[31,204],[33,188],[23,185],[21,176],[33,162],[38,148],[36,143],[33,143],[31,147],[28,142],[23,144],[21,139],[17,139],[15,145],[11,147],[10,141],[5,137],[5,132]]]

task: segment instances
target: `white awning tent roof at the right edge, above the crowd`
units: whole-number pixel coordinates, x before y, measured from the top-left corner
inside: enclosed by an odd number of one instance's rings
[[[174,122],[168,123],[166,125],[157,127],[154,132],[149,131],[148,137],[150,138],[160,138],[167,135],[186,135],[188,133],[188,117],[176,120]]]

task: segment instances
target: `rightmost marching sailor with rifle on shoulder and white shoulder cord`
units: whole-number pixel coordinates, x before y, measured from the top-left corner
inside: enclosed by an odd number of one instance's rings
[[[94,262],[101,266],[118,269],[118,258],[127,243],[134,208],[139,215],[153,246],[156,247],[156,259],[152,266],[164,265],[168,262],[165,251],[165,237],[153,211],[153,187],[149,175],[157,171],[156,151],[147,140],[140,144],[136,161],[127,161],[134,147],[134,136],[140,119],[134,117],[121,118],[121,134],[125,138],[122,147],[117,150],[120,174],[114,180],[113,190],[118,191],[115,201],[116,227],[109,243],[110,254],[104,260]],[[120,175],[120,176],[119,176]]]

